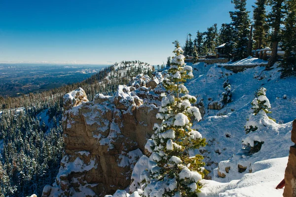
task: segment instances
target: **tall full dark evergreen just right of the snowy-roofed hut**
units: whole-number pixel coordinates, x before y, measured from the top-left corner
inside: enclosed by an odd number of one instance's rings
[[[248,36],[250,32],[249,11],[246,9],[246,0],[231,0],[236,11],[230,11],[232,27],[234,29],[234,60],[247,57]]]

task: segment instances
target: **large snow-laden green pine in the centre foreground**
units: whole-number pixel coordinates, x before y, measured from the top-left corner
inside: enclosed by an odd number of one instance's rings
[[[199,109],[191,106],[196,98],[188,95],[184,85],[186,79],[193,77],[192,67],[185,66],[180,46],[174,52],[176,56],[163,84],[168,95],[162,94],[157,114],[162,123],[154,125],[150,144],[153,164],[149,164],[150,171],[144,176],[146,197],[195,197],[201,188],[199,180],[206,172],[201,155],[189,157],[190,149],[206,145],[201,134],[191,129],[190,118],[201,119]]]

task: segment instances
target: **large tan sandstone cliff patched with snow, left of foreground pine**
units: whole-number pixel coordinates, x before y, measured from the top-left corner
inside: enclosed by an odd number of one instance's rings
[[[160,89],[155,88],[159,93]],[[68,93],[63,117],[65,156],[56,182],[44,187],[42,197],[96,197],[125,189],[154,123],[159,123],[159,95],[151,91],[123,85],[115,96],[99,94],[93,101],[82,89]]]

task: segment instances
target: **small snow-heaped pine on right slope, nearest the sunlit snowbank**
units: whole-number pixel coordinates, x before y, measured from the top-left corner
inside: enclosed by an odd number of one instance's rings
[[[261,140],[260,131],[258,129],[262,119],[265,119],[265,121],[269,121],[270,119],[266,115],[266,113],[271,113],[268,111],[271,106],[269,99],[266,97],[265,88],[262,87],[256,92],[255,99],[253,99],[251,104],[254,111],[253,114],[249,116],[249,119],[245,125],[246,134],[249,134],[250,136],[243,139],[243,144],[245,144],[247,147],[250,147],[249,154],[257,153],[261,149],[264,141]],[[256,131],[257,133],[250,133],[251,131]]]

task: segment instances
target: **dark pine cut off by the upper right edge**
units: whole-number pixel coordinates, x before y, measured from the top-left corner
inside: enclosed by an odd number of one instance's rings
[[[296,75],[296,0],[288,0],[287,5],[288,14],[283,31],[285,56],[281,77]]]

